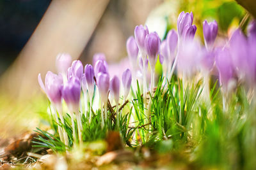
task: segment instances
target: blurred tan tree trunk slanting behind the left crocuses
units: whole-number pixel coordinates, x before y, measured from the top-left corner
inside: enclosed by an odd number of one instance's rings
[[[37,76],[55,71],[58,53],[78,59],[92,36],[109,0],[52,1],[17,60],[3,74],[1,94],[31,97],[39,89]],[[17,99],[17,98],[16,98]]]

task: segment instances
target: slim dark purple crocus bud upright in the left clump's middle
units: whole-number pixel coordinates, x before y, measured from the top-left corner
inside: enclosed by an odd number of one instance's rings
[[[84,67],[84,76],[86,79],[86,83],[87,83],[87,87],[89,90],[89,93],[92,94],[93,90],[94,90],[94,70],[91,64],[86,64],[86,66]]]

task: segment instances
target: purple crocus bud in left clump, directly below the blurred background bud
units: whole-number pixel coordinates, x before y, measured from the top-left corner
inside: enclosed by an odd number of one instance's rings
[[[108,101],[108,90],[109,90],[109,74],[100,72],[97,75],[97,86],[99,88],[100,97],[105,103]]]

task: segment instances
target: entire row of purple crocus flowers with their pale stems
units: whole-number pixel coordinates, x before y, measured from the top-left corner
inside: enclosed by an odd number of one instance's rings
[[[70,55],[60,54],[56,59],[58,74],[49,71],[45,76],[45,83],[40,74],[38,75],[39,84],[55,110],[56,120],[58,121],[60,117],[62,124],[64,124],[63,117],[65,117],[62,113],[62,106],[64,102],[67,104],[68,113],[72,118],[74,141],[82,141],[82,115],[88,117],[89,123],[92,120],[91,108],[95,95],[99,95],[100,98],[101,125],[104,127],[109,118],[107,108],[109,95],[113,99],[110,102],[115,101],[116,103],[117,125],[119,126],[121,113],[118,112],[118,104],[120,98],[123,97],[123,101],[127,99],[131,85],[136,86],[136,80],[140,77],[143,79],[138,82],[143,89],[144,101],[147,99],[148,91],[153,94],[155,66],[158,58],[163,66],[164,83],[172,79],[175,70],[177,70],[177,75],[182,75],[187,80],[191,80],[196,74],[201,73],[200,75],[205,80],[204,88],[209,89],[209,76],[213,70],[218,70],[223,94],[232,90],[234,82],[241,82],[254,88],[253,85],[256,81],[256,22],[250,24],[247,37],[237,29],[227,44],[218,46],[215,43],[218,24],[216,21],[207,22],[205,20],[203,23],[204,46],[195,38],[196,25],[193,25],[193,18],[192,12],[182,11],[177,19],[177,32],[174,29],[170,30],[166,39],[162,41],[157,32],[149,32],[146,25],[136,26],[134,36],[129,37],[126,43],[131,71],[126,69],[122,78],[116,75],[110,77],[109,66],[103,53],[96,53],[93,56],[93,66],[86,64],[85,67],[79,60],[72,62]],[[148,66],[151,71],[150,82],[147,81]],[[206,92],[209,93],[209,90]],[[84,104],[82,104],[83,101]],[[150,103],[144,102],[143,107],[148,108],[148,118],[151,114],[150,106]],[[77,124],[74,123],[75,120]],[[64,129],[58,128],[61,141],[67,144],[67,134]],[[76,129],[79,134],[78,140],[76,139]]]

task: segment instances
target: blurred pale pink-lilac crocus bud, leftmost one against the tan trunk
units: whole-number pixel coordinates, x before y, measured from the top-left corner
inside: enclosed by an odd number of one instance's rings
[[[58,73],[67,74],[68,67],[71,66],[72,58],[68,53],[60,53],[56,57],[56,68]]]

